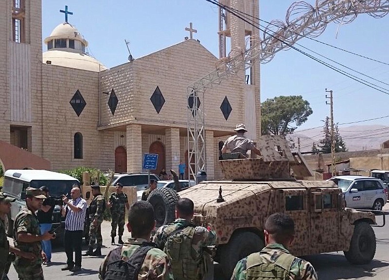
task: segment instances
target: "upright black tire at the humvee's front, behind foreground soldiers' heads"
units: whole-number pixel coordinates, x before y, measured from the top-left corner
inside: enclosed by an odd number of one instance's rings
[[[157,228],[169,224],[176,219],[175,210],[178,199],[179,195],[177,192],[169,188],[155,189],[150,193],[147,201],[153,205]]]

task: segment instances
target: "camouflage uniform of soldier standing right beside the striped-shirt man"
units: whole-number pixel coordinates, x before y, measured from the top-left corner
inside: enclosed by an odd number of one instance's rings
[[[103,245],[103,236],[101,236],[101,223],[103,222],[103,214],[106,209],[106,199],[104,199],[102,194],[95,196],[90,202],[90,226],[89,226],[89,247],[97,241],[97,247],[101,248]],[[97,219],[96,226],[93,225],[93,220]]]

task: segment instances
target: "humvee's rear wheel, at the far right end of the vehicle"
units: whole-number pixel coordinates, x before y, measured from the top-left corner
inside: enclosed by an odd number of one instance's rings
[[[344,255],[352,264],[369,264],[375,254],[375,234],[371,226],[366,222],[355,225],[350,249]]]

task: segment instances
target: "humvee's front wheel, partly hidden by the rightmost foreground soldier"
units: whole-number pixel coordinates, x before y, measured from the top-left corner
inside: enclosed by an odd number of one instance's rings
[[[220,264],[224,275],[230,279],[238,261],[249,254],[259,252],[263,247],[265,247],[264,241],[253,232],[244,231],[234,234],[229,243],[221,248]]]

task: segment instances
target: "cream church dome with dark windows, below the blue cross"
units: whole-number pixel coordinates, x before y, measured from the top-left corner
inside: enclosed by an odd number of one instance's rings
[[[42,55],[43,63],[94,72],[106,70],[106,66],[86,53],[88,41],[68,22],[55,27],[44,42],[47,51]]]

